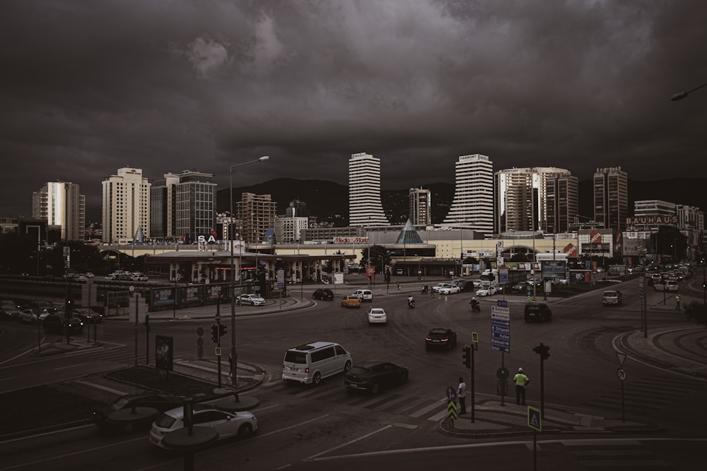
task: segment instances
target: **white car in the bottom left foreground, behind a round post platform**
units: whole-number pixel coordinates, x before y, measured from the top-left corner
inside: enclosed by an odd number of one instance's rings
[[[184,424],[184,407],[163,412],[152,424],[150,442],[165,448],[163,439],[170,431],[182,429]],[[218,432],[218,439],[229,439],[233,436],[247,438],[258,429],[258,421],[251,412],[226,412],[218,410],[209,404],[194,404],[192,424],[197,427],[211,427]]]

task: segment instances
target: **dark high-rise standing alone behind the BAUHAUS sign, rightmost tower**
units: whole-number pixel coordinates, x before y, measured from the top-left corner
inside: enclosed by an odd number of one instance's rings
[[[629,177],[621,167],[597,169],[594,174],[594,220],[614,233],[626,229],[629,215]]]

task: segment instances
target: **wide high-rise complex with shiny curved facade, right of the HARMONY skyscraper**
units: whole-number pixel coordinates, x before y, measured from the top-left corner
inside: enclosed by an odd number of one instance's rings
[[[496,172],[496,231],[564,232],[578,211],[578,181],[566,169]]]

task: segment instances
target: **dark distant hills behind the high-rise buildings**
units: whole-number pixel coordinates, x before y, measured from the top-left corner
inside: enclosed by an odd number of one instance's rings
[[[432,193],[432,222],[439,224],[448,213],[454,197],[454,184],[431,183],[421,186]],[[633,214],[633,202],[647,199],[686,204],[707,210],[707,178],[676,178],[655,181],[629,179],[629,214]],[[218,212],[228,211],[229,189],[218,191]],[[337,226],[349,224],[349,187],[326,180],[300,180],[279,178],[252,186],[233,188],[235,201],[240,193],[270,194],[277,202],[277,213],[284,214],[290,201],[299,199],[307,203],[310,215],[320,221],[331,221]],[[381,191],[383,210],[393,225],[402,225],[409,213],[409,188]],[[579,213],[594,215],[592,180],[580,181]]]

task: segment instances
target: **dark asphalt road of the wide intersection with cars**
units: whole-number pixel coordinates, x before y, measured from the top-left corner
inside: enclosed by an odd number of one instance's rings
[[[601,292],[592,292],[553,302],[554,321],[546,324],[526,324],[522,304],[510,304],[511,347],[510,354],[503,356],[492,351],[489,342],[491,302],[502,296],[484,299],[481,313],[474,314],[469,310],[469,294],[433,299],[416,294],[416,309],[408,309],[407,292],[391,292],[376,296],[361,309],[342,308],[335,299],[317,302],[311,309],[238,318],[240,361],[258,364],[270,373],[261,386],[248,393],[260,400],[261,406],[254,411],[260,429],[253,439],[228,441],[197,453],[197,469],[328,470],[333,466],[353,470],[355,466],[356,470],[409,470],[436,468],[440,463],[445,467],[472,465],[472,454],[474,467],[480,469],[518,469],[519,460],[525,469],[531,469],[532,440],[486,443],[438,432],[438,422],[445,415],[445,389],[455,386],[459,376],[470,382],[471,371],[462,365],[461,345],[470,342],[472,331],[479,333],[474,362],[477,399],[496,397],[496,370],[503,362],[511,371],[522,366],[527,372],[531,378],[528,401],[537,405],[539,357],[532,347],[543,342],[551,347],[544,368],[546,404],[591,410],[597,415],[620,415],[623,404],[629,417],[648,416],[667,424],[670,438],[704,439],[707,410],[700,406],[707,400],[704,383],[627,362],[624,386],[633,394],[621,400],[614,339],[638,328],[640,306],[637,282],[618,286],[624,292],[623,306],[603,308]],[[368,326],[368,306],[386,309],[388,325]],[[670,311],[652,311],[649,328],[670,325],[674,316]],[[213,354],[210,324],[209,319],[153,322],[151,334],[173,336],[175,357],[194,358],[197,327],[206,332],[205,354]],[[456,330],[460,345],[451,352],[426,351],[424,336],[429,328],[438,326]],[[136,330],[134,323],[127,321],[105,321],[99,326],[100,349],[52,357],[30,357],[28,345],[37,342],[36,330],[30,326],[8,326],[3,332],[9,340],[0,347],[0,385],[4,390],[133,364],[136,345],[138,361],[146,359],[144,328]],[[377,397],[349,393],[341,385],[341,376],[328,378],[317,388],[284,384],[281,365],[285,350],[314,340],[339,342],[351,351],[354,362],[385,359],[408,366],[410,381]],[[507,400],[509,407],[516,407],[513,398]],[[624,455],[631,450],[629,458],[622,458],[624,463],[650,463],[651,469],[697,469],[694,463],[700,462],[702,442],[648,441],[653,438],[666,437],[568,443],[571,440],[548,441],[551,437],[541,435],[539,469],[583,469],[591,464],[588,456],[600,457],[595,463],[614,463],[617,450]],[[97,463],[105,470],[162,470],[178,468],[181,463],[174,455],[154,450],[144,432],[112,437],[97,434],[93,427],[0,443],[0,455],[4,457],[0,470],[49,470],[57,469],[57,463],[62,470],[85,470]]]

